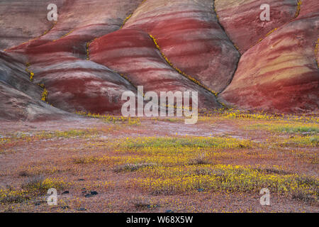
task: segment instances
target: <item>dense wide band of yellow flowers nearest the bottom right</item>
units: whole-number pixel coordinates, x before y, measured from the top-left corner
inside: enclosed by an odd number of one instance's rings
[[[275,169],[275,167],[274,167]],[[277,175],[253,167],[240,165],[192,165],[177,167],[147,167],[140,170],[145,178],[128,184],[152,193],[171,194],[201,190],[228,192],[258,192],[267,187],[272,192],[303,192],[318,199],[319,179],[294,174]]]

